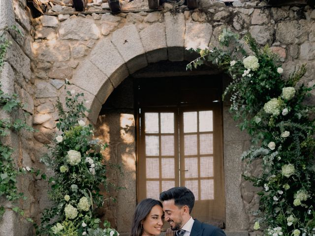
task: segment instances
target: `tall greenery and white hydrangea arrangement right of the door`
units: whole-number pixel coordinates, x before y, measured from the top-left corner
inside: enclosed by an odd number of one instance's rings
[[[260,174],[244,175],[261,187],[253,228],[264,235],[314,236],[315,108],[308,105],[314,87],[300,81],[306,65],[284,78],[278,56],[268,46],[260,48],[250,34],[239,40],[224,29],[219,40],[220,47],[190,49],[200,57],[187,68],[210,62],[230,75],[223,98],[230,98],[234,119],[252,137],[242,159],[248,164],[260,160],[262,165]]]

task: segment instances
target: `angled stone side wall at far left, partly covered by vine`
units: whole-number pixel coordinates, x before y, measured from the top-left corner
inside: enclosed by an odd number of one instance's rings
[[[1,0],[0,1],[0,33],[3,29],[16,26],[23,33],[23,36],[13,30],[5,33],[5,37],[12,42],[7,50],[5,61],[0,72],[1,90],[4,93],[18,94],[20,100],[25,104],[22,111],[11,114],[1,111],[0,119],[25,119],[26,123],[32,126],[32,115],[34,112],[34,77],[31,72],[32,43],[30,34],[32,29],[31,15],[24,0]],[[32,132],[10,132],[2,138],[5,145],[14,149],[13,158],[17,167],[32,167],[36,162],[34,157],[34,142]],[[24,209],[26,217],[35,217],[37,214],[36,180],[32,175],[27,174],[18,178],[18,190],[24,193],[27,200],[21,200],[17,204]],[[1,204],[12,207],[10,202],[4,198],[0,199]],[[7,209],[0,219],[0,235],[5,236],[27,236],[33,234],[32,224],[12,210]]]

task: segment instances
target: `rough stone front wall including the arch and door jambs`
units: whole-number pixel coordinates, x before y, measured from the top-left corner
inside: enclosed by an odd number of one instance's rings
[[[64,79],[73,83],[71,89],[85,93],[87,105],[92,110],[89,118],[95,123],[102,104],[129,74],[160,60],[189,60],[191,57],[186,53],[186,47],[218,45],[221,29],[226,27],[241,35],[249,31],[259,44],[271,45],[284,62],[286,75],[294,66],[308,62],[305,80],[314,83],[311,77],[315,69],[312,49],[315,41],[314,10],[296,6],[265,8],[259,1],[234,2],[233,5],[201,1],[200,9],[196,10],[173,9],[172,5],[165,4],[162,11],[155,12],[56,14],[36,19],[33,32],[35,59],[32,61],[37,106],[34,120],[41,137],[47,138],[44,138],[45,142],[51,139],[54,126],[47,125],[47,122],[52,124],[52,120],[58,118],[54,109],[41,108],[51,107],[57,96],[63,96]],[[249,137],[238,131],[227,109],[228,104],[224,104],[225,226],[228,234],[247,235],[248,231],[252,232],[259,198],[255,194],[257,189],[241,177],[243,164],[239,156],[249,147]],[[135,154],[124,156],[127,147],[121,140],[123,114],[108,111],[105,118],[98,119],[96,127],[107,125],[111,130],[111,138],[107,140],[111,144],[110,157],[133,166],[130,172],[129,167],[123,164],[128,177],[118,182],[128,186],[126,191],[129,192],[117,195],[119,202],[131,201],[129,206],[133,208],[136,200]],[[259,166],[257,168],[253,166],[252,171],[259,171]],[[132,211],[129,206],[118,204],[109,206],[110,211],[107,210],[111,212],[108,217],[122,233],[128,232],[130,227]]]

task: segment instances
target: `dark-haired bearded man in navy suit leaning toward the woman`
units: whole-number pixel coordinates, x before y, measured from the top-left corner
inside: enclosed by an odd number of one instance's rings
[[[188,188],[174,187],[161,192],[159,200],[163,205],[165,220],[171,230],[176,230],[174,236],[225,236],[220,228],[192,219],[190,212],[195,197]]]

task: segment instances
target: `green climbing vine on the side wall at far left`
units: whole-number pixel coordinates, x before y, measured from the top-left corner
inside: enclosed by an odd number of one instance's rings
[[[21,31],[15,26],[8,27],[3,30],[2,34],[0,35],[0,71],[4,63],[7,49],[12,44],[12,42],[8,40],[7,36],[5,35],[5,33],[9,30],[15,30],[17,33],[22,35]],[[8,115],[8,118],[0,119],[0,197],[3,197],[13,203],[13,207],[4,207],[0,205],[0,217],[3,215],[6,209],[13,210],[24,216],[24,211],[16,204],[18,199],[26,198],[23,196],[23,193],[17,189],[17,177],[20,174],[25,174],[28,171],[33,172],[33,170],[30,167],[19,169],[14,162],[14,157],[12,156],[14,149],[6,144],[10,132],[18,132],[22,129],[33,131],[32,127],[27,125],[25,120],[12,118],[12,116],[10,116],[18,109],[22,109],[23,106],[24,105],[19,100],[17,94],[4,93],[0,87],[0,112],[2,116],[5,113]],[[31,218],[26,219],[32,222]]]

